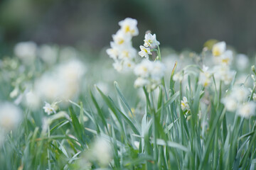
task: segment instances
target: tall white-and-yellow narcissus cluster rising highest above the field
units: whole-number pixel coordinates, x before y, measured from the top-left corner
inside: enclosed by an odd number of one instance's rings
[[[126,71],[134,67],[134,57],[137,50],[132,47],[132,37],[139,34],[137,20],[125,18],[119,22],[121,27],[116,34],[112,35],[111,48],[107,49],[107,55],[113,60],[114,69],[118,72]]]

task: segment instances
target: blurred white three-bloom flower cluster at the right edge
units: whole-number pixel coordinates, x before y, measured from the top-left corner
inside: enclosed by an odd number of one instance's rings
[[[238,115],[244,118],[250,118],[255,115],[256,103],[248,101],[250,91],[245,86],[234,86],[230,95],[223,98],[222,102],[228,111],[236,111]]]

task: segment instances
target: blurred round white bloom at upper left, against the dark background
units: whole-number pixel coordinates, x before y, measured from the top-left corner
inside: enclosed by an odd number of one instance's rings
[[[23,62],[33,62],[36,58],[36,43],[35,42],[19,42],[14,47],[14,54]]]

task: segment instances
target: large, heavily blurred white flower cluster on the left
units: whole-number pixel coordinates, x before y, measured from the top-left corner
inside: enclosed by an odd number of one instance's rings
[[[85,70],[79,60],[60,64],[53,72],[46,72],[36,80],[35,94],[50,102],[73,98],[78,92],[80,78]]]

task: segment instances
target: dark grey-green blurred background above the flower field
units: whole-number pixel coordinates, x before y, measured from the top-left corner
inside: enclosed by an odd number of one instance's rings
[[[138,49],[151,30],[162,47],[177,51],[200,52],[216,39],[250,55],[256,51],[255,8],[255,0],[1,0],[0,52],[29,40],[99,52],[110,45],[118,21],[131,17],[138,21]]]

